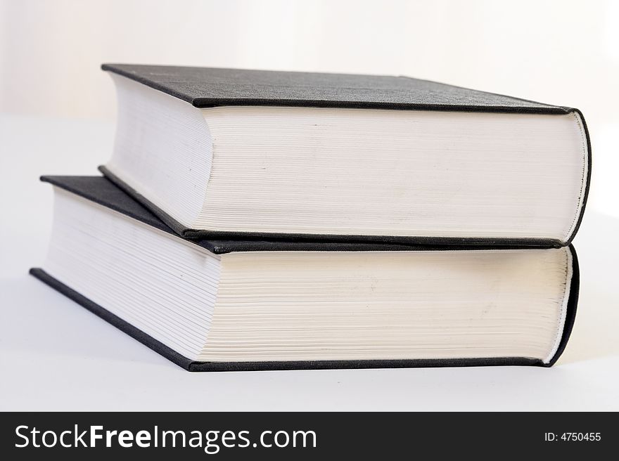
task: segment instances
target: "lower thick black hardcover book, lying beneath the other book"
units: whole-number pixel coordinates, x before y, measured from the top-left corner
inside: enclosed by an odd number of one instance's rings
[[[575,318],[571,246],[193,241],[105,178],[45,180],[30,273],[186,370],[550,366]]]

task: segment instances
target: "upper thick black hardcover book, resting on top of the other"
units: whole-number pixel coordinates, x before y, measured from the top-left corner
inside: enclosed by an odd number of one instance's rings
[[[102,171],[189,238],[561,247],[590,177],[573,108],[411,79],[103,65]]]

